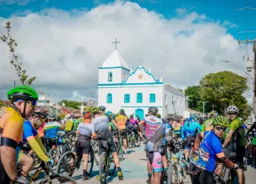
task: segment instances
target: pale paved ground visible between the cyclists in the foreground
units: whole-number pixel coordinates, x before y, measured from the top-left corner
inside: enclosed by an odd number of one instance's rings
[[[128,154],[128,159],[125,159],[121,162],[122,172],[124,175],[124,180],[119,181],[116,174],[114,177],[108,177],[109,183],[122,183],[122,184],[139,184],[146,183],[147,171],[146,171],[146,154],[143,151],[144,147],[138,147],[130,150]],[[74,173],[74,178],[78,183],[94,184],[99,183],[96,179],[98,174],[97,166],[94,166],[94,170],[91,174],[90,180],[82,181],[82,166],[80,170]],[[248,166],[248,170],[245,172],[246,175],[246,184],[254,184],[256,181],[256,170]],[[185,183],[191,183],[190,177],[187,175]]]

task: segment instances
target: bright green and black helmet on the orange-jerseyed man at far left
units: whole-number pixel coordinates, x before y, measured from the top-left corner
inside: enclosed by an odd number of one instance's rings
[[[38,93],[30,86],[14,87],[14,89],[8,91],[7,96],[8,99],[12,102],[17,100],[18,98],[30,101],[38,100]]]

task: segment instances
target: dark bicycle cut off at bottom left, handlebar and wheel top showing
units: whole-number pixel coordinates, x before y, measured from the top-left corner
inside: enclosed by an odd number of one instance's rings
[[[22,167],[22,166],[21,166]],[[18,169],[20,170],[18,172],[19,175],[21,175],[21,169]],[[65,175],[62,175],[62,174],[54,174],[54,171],[52,170],[51,166],[46,166],[46,163],[45,162],[42,162],[38,168],[38,170],[36,170],[34,172],[34,174],[32,174],[30,176],[30,179],[29,179],[29,184],[31,183],[34,183],[35,181],[38,180],[39,178],[39,175],[41,173],[44,173],[44,178],[42,179],[41,182],[39,182],[40,184],[43,184],[43,183],[56,183],[54,182],[54,180],[61,180],[62,183],[70,183],[70,184],[76,184],[77,182],[75,182],[75,180],[73,178],[70,178],[69,176],[65,176]],[[50,174],[51,173],[51,174]],[[59,182],[57,182],[59,183]]]

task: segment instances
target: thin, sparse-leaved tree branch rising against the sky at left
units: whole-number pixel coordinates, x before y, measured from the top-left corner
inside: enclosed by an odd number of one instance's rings
[[[10,64],[14,66],[18,78],[22,82],[22,85],[30,86],[32,82],[36,79],[36,77],[29,78],[28,74],[26,74],[26,70],[22,69],[22,62],[18,59],[18,55],[15,52],[16,47],[18,46],[17,42],[10,35],[10,22],[6,22],[6,30],[7,34],[1,34],[2,42],[5,42],[10,49]]]

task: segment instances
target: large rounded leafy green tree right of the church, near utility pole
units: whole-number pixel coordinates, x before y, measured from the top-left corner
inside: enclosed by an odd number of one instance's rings
[[[246,85],[247,78],[230,71],[221,71],[216,74],[207,74],[200,81],[199,95],[203,101],[213,104],[214,110],[226,114],[226,108],[230,105],[238,106],[241,115],[248,113],[246,98],[242,94],[249,89]],[[244,114],[245,113],[245,114]]]

